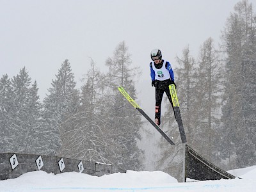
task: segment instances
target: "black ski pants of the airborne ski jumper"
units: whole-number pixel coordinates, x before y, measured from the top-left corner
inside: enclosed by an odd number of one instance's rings
[[[171,105],[172,105],[172,109],[173,109],[173,113],[174,113],[174,108],[173,108],[173,104],[172,104],[172,97],[170,94],[170,90],[169,90],[169,85],[171,84],[171,80],[167,79],[164,81],[157,81],[156,80],[156,114],[155,114],[155,119],[158,119],[159,125],[161,124],[161,104],[162,104],[162,100],[163,100],[163,95],[164,92],[166,93]],[[175,116],[175,113],[174,113]],[[176,116],[175,116],[176,119]]]

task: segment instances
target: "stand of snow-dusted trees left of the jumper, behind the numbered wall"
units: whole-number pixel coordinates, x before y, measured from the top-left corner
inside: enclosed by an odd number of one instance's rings
[[[102,74],[91,59],[81,90],[76,89],[68,60],[63,61],[43,103],[36,82],[26,68],[0,82],[1,152],[47,154],[111,163],[123,170],[143,169],[141,116],[118,92],[125,86],[136,98],[134,79],[139,68],[131,67],[125,42],[120,42],[109,67]]]

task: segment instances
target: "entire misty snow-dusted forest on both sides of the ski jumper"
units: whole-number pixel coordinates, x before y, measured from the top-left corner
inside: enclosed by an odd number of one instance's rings
[[[256,15],[252,4],[236,4],[221,32],[220,47],[211,37],[191,56],[189,45],[173,68],[182,121],[188,143],[223,168],[256,163]],[[163,58],[164,59],[164,58]],[[174,63],[174,61],[170,61]],[[143,170],[138,148],[143,122],[138,111],[118,92],[124,86],[133,99],[140,68],[132,66],[125,42],[105,65],[105,73],[90,58],[83,86],[76,88],[72,65],[61,63],[47,97],[40,102],[36,81],[26,67],[0,79],[0,152],[47,154],[111,163],[124,170]],[[145,64],[146,65],[146,64]],[[173,65],[172,65],[173,66]],[[180,142],[167,100],[162,126]],[[183,151],[159,142],[157,168],[180,173]]]

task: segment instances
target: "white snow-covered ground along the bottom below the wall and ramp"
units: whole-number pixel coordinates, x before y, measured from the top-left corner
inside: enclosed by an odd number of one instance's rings
[[[76,172],[54,175],[36,171],[1,180],[0,191],[256,191],[256,166],[229,173],[243,179],[179,183],[164,172],[127,171],[96,177]]]

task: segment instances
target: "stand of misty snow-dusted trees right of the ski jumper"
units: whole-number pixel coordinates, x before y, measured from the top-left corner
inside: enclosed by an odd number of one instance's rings
[[[189,54],[189,46],[185,47],[177,57],[179,67],[174,69],[189,145],[227,170],[256,163],[255,33],[252,4],[241,1],[227,19],[220,47],[208,38],[197,59]],[[166,106],[164,129],[173,129],[173,111],[169,104]],[[179,138],[176,130],[177,126],[172,136]],[[177,172],[182,168],[182,150],[163,147],[162,142],[159,164],[165,163],[167,170],[179,167]]]

